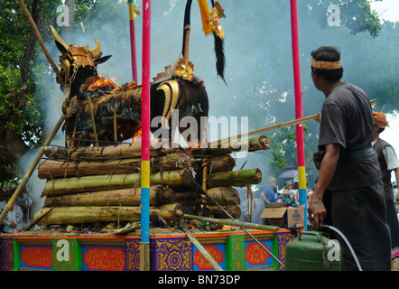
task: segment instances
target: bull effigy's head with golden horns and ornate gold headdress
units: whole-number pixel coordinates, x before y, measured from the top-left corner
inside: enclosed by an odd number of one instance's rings
[[[104,63],[111,57],[111,55],[101,57],[101,45],[96,38],[94,39],[96,46],[90,50],[88,45],[81,47],[76,43],[67,44],[62,40],[54,27],[50,26],[50,28],[57,48],[61,52],[59,66],[61,73],[64,72],[65,85],[69,85],[73,81],[73,76],[76,75],[79,68],[88,67],[97,69],[98,64]]]

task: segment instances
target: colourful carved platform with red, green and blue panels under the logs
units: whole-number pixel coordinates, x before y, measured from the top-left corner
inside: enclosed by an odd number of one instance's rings
[[[279,232],[249,230],[284,263],[285,246],[292,238]],[[29,233],[29,234],[28,234]],[[193,235],[225,271],[283,270],[253,238],[242,230],[193,231]],[[2,235],[1,271],[139,271],[140,235],[101,234]],[[214,270],[181,230],[158,229],[150,237],[151,271]]]

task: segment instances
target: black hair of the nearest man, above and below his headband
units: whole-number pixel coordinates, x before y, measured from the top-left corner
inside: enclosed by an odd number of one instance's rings
[[[341,53],[338,48],[332,46],[321,46],[315,51],[311,51],[311,57],[315,61],[339,61],[341,57]],[[323,79],[336,81],[342,79],[344,74],[344,69],[342,66],[337,70],[320,70],[315,69],[314,67],[311,70],[320,75]]]

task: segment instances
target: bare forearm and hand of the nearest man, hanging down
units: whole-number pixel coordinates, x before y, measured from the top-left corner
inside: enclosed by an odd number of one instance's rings
[[[324,191],[326,191],[329,182],[334,175],[339,160],[340,144],[327,144],[325,146],[326,154],[320,164],[319,178],[316,187],[309,200],[308,217],[313,213],[314,222],[317,227],[326,217],[326,208],[322,202]],[[317,229],[317,228],[316,228]]]

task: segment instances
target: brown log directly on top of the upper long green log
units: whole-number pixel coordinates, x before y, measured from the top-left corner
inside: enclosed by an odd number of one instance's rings
[[[168,154],[151,158],[152,172],[174,171],[190,168],[191,158],[187,154]],[[118,174],[140,172],[141,158],[119,159],[108,162],[79,162],[46,160],[38,167],[40,179],[79,177],[98,174]]]

